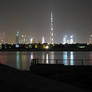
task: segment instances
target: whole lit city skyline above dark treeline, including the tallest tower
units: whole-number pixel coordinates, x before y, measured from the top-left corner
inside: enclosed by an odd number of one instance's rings
[[[54,34],[54,16],[53,13],[51,12],[51,16],[50,16],[50,37],[49,37],[49,42],[46,41],[45,37],[42,36],[42,38],[40,37],[40,39],[37,39],[36,37],[30,37],[26,34],[22,34],[21,32],[16,32],[16,44],[32,44],[32,43],[50,43],[50,44],[54,44],[55,43],[55,34]],[[4,43],[9,43],[6,41],[6,35],[5,32],[0,32],[0,44],[4,44]],[[62,44],[75,44],[75,38],[74,35],[64,35],[63,37],[63,41],[61,42]],[[88,38],[87,44],[92,44],[92,35],[90,35],[90,37]]]

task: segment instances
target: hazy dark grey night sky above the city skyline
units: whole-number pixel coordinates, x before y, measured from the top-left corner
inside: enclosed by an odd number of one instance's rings
[[[0,32],[15,40],[16,31],[49,40],[50,12],[54,14],[56,42],[74,35],[86,42],[92,34],[92,0],[0,0]]]

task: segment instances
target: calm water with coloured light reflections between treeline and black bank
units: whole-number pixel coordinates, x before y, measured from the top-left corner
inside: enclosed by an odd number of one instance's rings
[[[64,65],[92,65],[92,52],[0,52],[0,63],[29,70],[33,59],[39,63]]]

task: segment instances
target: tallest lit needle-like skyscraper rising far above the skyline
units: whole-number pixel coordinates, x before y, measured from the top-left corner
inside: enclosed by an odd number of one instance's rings
[[[50,43],[54,44],[54,21],[53,21],[53,14],[51,11],[51,21],[50,21]]]

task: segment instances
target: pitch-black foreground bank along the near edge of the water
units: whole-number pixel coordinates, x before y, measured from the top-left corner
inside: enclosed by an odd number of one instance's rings
[[[32,65],[31,71],[20,71],[0,65],[0,89],[31,92],[91,92],[92,67]],[[86,80],[85,80],[86,79]]]

